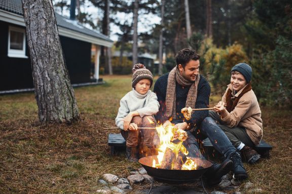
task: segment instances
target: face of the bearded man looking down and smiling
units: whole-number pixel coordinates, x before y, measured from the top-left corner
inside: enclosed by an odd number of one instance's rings
[[[191,60],[186,64],[185,69],[181,64],[178,65],[179,73],[182,77],[189,81],[195,81],[199,73],[200,61]]]

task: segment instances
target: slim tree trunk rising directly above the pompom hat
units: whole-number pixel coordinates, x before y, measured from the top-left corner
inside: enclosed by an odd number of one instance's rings
[[[138,62],[138,9],[139,0],[134,2],[134,18],[133,18],[133,67]]]

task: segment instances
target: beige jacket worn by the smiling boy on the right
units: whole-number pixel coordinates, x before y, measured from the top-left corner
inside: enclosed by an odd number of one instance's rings
[[[246,86],[245,86],[246,87]],[[226,103],[226,93],[228,88],[232,90],[233,96],[238,96],[244,87],[239,90],[235,95],[231,84],[227,86],[227,89],[222,97],[222,102]],[[236,126],[245,127],[246,133],[252,140],[252,142],[258,146],[263,137],[263,120],[261,118],[261,109],[258,103],[257,96],[255,96],[253,90],[249,90],[241,96],[235,109],[230,113],[225,109],[220,113],[223,122],[227,126],[233,128]]]

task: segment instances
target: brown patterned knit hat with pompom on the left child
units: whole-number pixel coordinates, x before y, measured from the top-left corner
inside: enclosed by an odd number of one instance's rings
[[[134,65],[134,68],[132,69],[133,72],[133,80],[132,80],[132,87],[135,87],[135,85],[141,80],[141,79],[149,79],[152,86],[153,83],[153,75],[152,73],[145,68],[143,64],[136,64]]]

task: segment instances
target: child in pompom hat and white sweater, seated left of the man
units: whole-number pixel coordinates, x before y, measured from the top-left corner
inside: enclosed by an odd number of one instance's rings
[[[154,151],[155,130],[138,127],[155,127],[154,115],[159,110],[159,103],[156,93],[150,90],[153,83],[152,73],[143,64],[136,64],[132,71],[133,89],[120,101],[116,125],[126,140],[127,159],[135,162],[139,153],[149,156]]]

